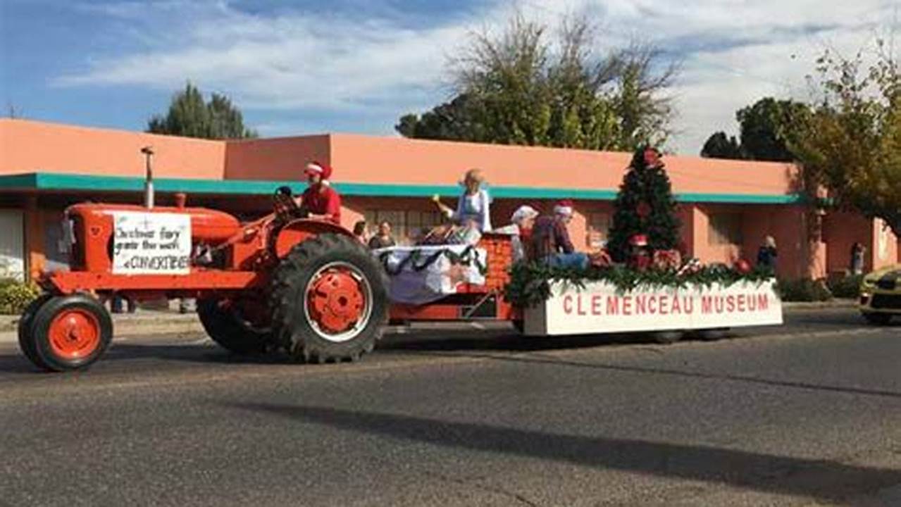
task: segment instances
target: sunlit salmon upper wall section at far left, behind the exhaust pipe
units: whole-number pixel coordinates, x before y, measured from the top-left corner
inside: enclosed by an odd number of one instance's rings
[[[223,141],[11,119],[0,119],[0,175],[40,171],[143,177],[144,146],[156,151],[155,177],[223,178]]]

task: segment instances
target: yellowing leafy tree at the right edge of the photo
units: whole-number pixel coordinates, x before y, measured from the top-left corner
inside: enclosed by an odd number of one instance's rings
[[[876,55],[869,65],[863,54]],[[789,146],[808,187],[835,204],[887,222],[901,236],[901,72],[883,41],[852,59],[817,60],[823,100],[796,122]],[[810,188],[808,188],[810,189]]]

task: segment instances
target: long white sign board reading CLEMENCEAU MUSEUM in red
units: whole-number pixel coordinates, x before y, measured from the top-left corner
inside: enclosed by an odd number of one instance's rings
[[[646,330],[702,330],[782,323],[774,283],[637,287],[619,291],[605,282],[582,287],[556,283],[551,297],[525,311],[529,335]]]

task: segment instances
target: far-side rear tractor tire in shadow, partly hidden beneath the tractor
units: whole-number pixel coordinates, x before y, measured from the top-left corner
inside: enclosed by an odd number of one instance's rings
[[[223,306],[223,300],[202,299],[197,302],[197,317],[206,334],[220,347],[234,354],[262,354],[272,343],[270,330],[255,330],[241,320],[234,310]]]

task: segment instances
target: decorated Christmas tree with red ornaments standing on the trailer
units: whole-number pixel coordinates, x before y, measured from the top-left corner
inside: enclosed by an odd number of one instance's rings
[[[662,160],[649,164],[646,150],[635,150],[614,202],[614,223],[607,250],[617,262],[629,257],[629,240],[635,234],[646,235],[648,245],[654,250],[678,247],[681,223],[672,184]]]

